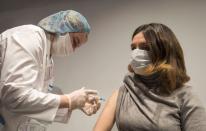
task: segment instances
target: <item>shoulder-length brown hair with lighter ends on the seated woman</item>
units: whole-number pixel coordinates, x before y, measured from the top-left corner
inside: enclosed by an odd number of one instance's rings
[[[183,50],[172,30],[159,23],[138,27],[133,35],[142,32],[146,44],[140,46],[149,51],[152,64],[146,74],[159,73],[158,81],[168,92],[180,88],[190,80],[186,73]]]

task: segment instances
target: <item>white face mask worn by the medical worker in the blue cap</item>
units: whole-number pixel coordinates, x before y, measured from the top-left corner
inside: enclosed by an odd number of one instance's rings
[[[68,56],[74,52],[69,33],[64,36],[55,36],[51,48],[51,54],[55,56]]]

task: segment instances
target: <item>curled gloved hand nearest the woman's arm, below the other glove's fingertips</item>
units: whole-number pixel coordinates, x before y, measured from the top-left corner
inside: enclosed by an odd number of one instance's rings
[[[99,97],[90,95],[88,101],[85,103],[84,107],[81,108],[81,110],[88,116],[91,116],[92,114],[95,114],[101,104],[99,102]]]

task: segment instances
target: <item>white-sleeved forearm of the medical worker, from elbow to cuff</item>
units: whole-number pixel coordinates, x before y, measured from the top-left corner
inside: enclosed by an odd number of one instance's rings
[[[4,86],[1,91],[2,107],[14,114],[52,122],[59,108],[59,95],[13,86]]]

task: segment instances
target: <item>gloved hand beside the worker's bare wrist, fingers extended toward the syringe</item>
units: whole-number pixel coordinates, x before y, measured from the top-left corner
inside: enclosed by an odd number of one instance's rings
[[[89,95],[94,95],[97,96],[97,91],[96,90],[88,90],[85,89],[85,87],[76,90],[70,94],[67,94],[66,96],[68,97],[69,100],[69,108],[71,110],[74,109],[81,109],[85,106],[85,103],[89,101]]]

